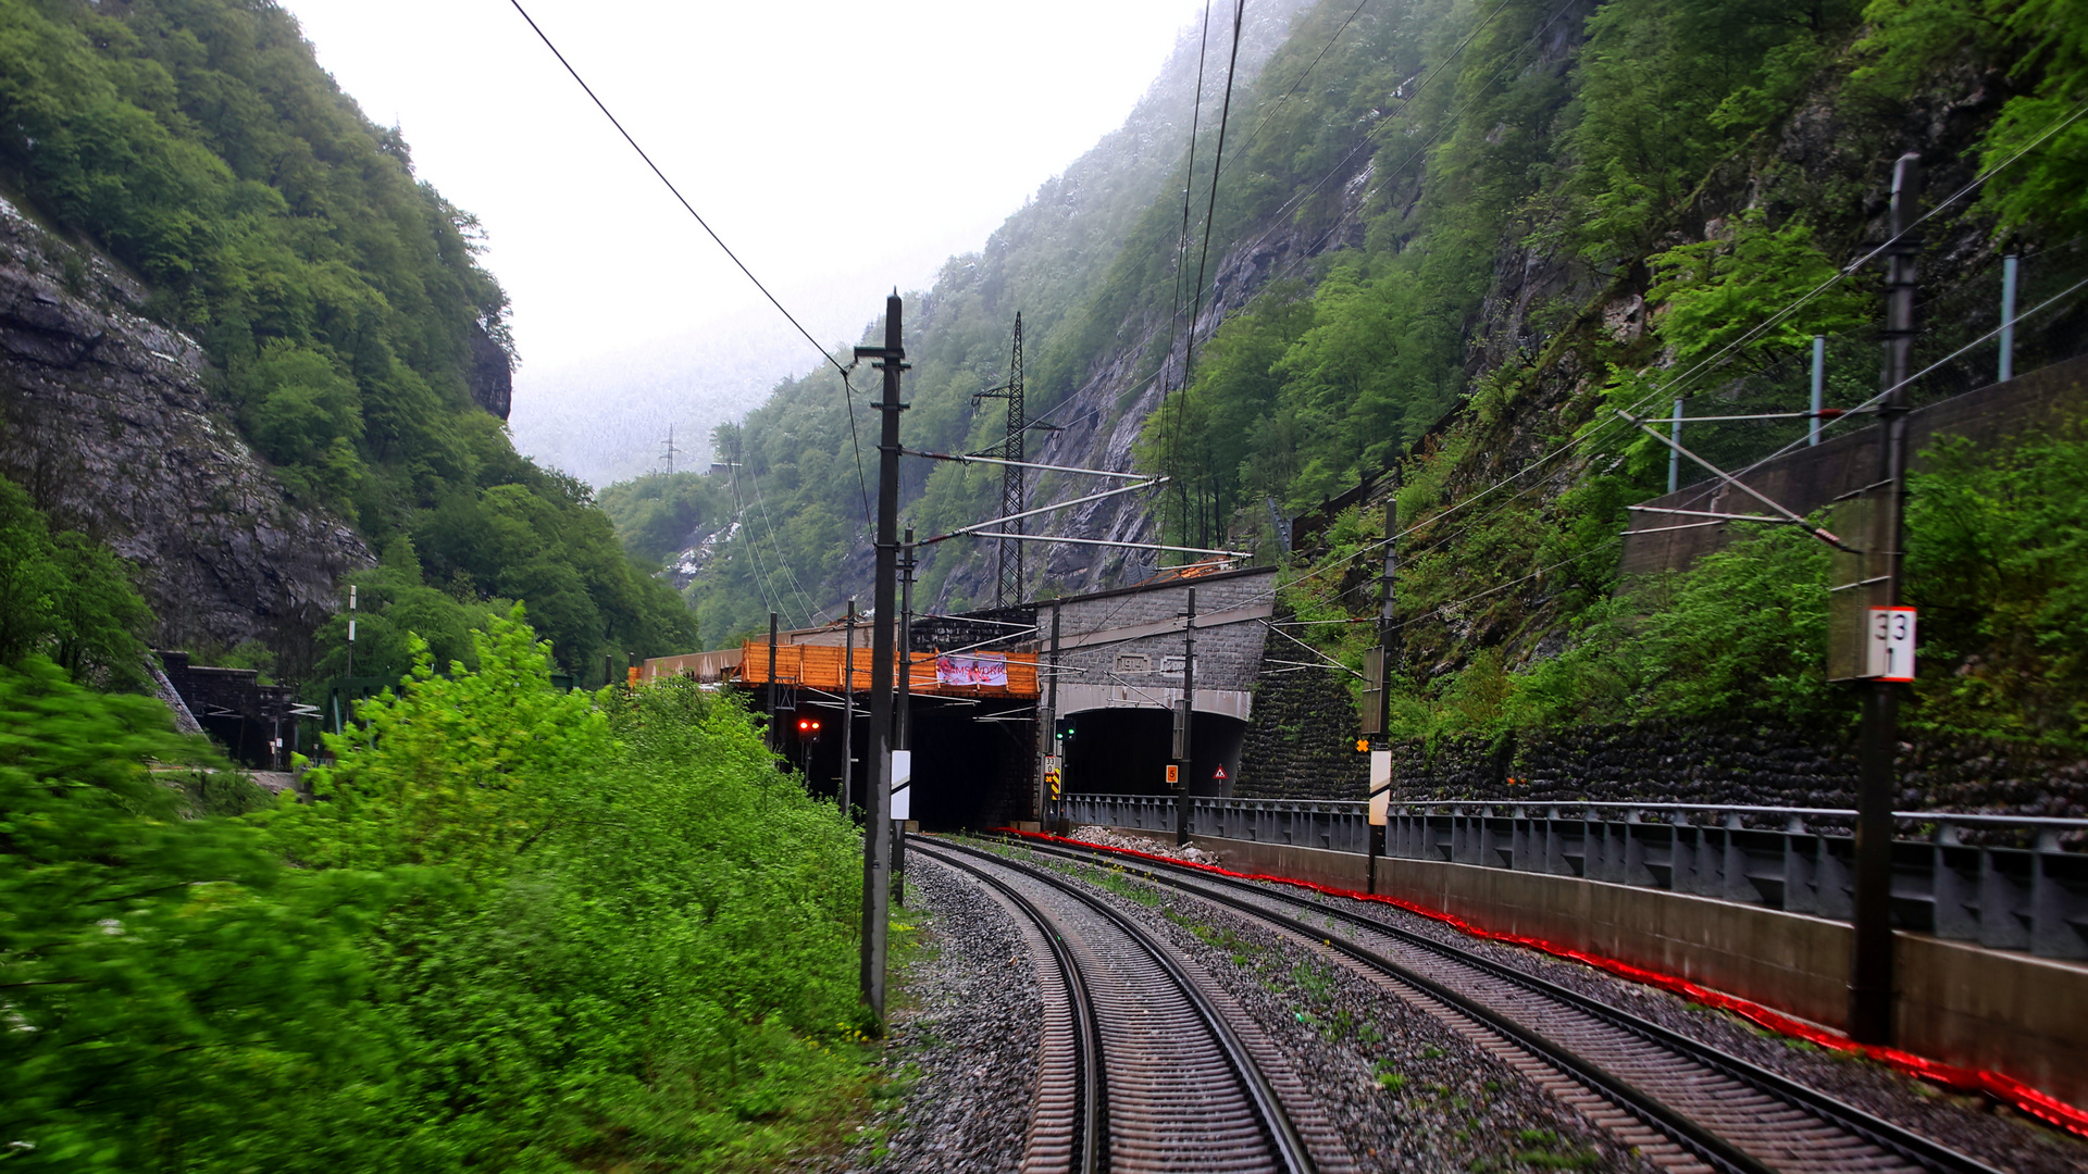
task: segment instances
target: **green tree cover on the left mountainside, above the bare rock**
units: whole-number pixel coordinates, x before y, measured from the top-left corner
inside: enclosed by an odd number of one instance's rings
[[[512,347],[478,226],[276,4],[0,0],[0,186],[134,269],[292,497],[409,537],[413,587],[526,600],[574,668],[693,639],[587,489],[474,403],[505,414]]]

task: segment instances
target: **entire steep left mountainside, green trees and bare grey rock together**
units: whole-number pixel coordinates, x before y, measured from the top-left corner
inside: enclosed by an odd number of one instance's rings
[[[0,470],[138,560],[157,639],[338,671],[338,579],[401,543],[401,591],[526,600],[572,668],[693,639],[516,455],[476,221],[274,2],[0,0]]]

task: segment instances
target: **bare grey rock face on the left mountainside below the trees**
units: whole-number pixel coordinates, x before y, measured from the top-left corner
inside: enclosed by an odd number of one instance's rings
[[[152,643],[257,637],[296,668],[334,583],[376,560],[347,522],[286,499],[213,399],[203,349],[144,301],[0,198],[0,474],[138,564]]]

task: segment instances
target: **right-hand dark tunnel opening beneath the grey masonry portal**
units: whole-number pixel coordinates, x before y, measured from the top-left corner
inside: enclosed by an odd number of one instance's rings
[[[1067,714],[1065,790],[1079,794],[1167,794],[1173,714],[1159,708],[1107,708]],[[1232,794],[1240,775],[1247,723],[1199,712],[1190,721],[1190,794]],[[1224,767],[1224,779],[1219,779]]]

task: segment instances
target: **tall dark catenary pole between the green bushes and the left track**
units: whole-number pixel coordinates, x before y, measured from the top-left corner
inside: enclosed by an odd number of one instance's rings
[[[877,593],[871,627],[871,788],[864,796],[862,827],[862,1003],[879,1032],[885,1024],[885,921],[892,911],[887,877],[892,856],[892,668],[894,612],[900,564],[900,295],[885,299],[885,345],[856,347],[858,359],[875,359],[885,374],[883,397],[873,403],[881,416],[877,439]]]

